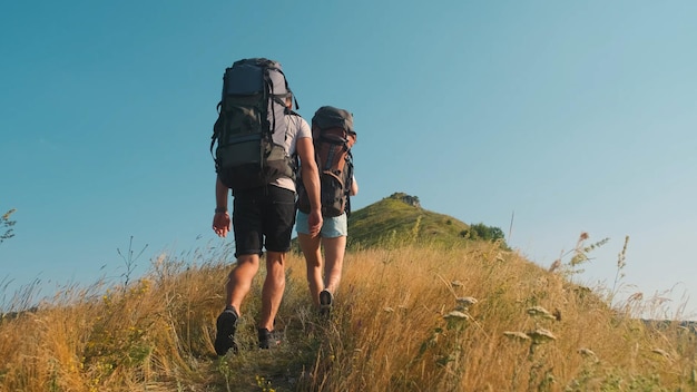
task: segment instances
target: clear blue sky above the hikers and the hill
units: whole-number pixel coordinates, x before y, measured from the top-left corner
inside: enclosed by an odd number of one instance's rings
[[[691,0],[6,1],[0,213],[18,223],[0,300],[118,277],[131,236],[139,271],[229,242],[210,229],[215,106],[225,67],[268,57],[305,118],[354,112],[354,208],[405,192],[544,267],[581,232],[609,237],[588,285],[612,284],[628,235],[627,294],[677,310],[697,296],[695,16]]]

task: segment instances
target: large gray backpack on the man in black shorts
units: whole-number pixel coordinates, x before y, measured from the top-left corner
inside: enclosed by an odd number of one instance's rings
[[[217,141],[215,168],[227,187],[249,189],[279,177],[295,178],[295,158],[282,145],[287,128],[285,116],[295,115],[285,106],[289,94],[276,61],[243,59],[225,70],[210,154]]]

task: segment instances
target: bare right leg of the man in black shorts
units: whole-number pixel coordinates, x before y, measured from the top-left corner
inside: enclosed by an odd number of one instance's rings
[[[278,313],[284,291],[285,253],[266,252],[266,280],[264,280],[264,287],[262,288],[261,329],[274,330],[274,320]]]

